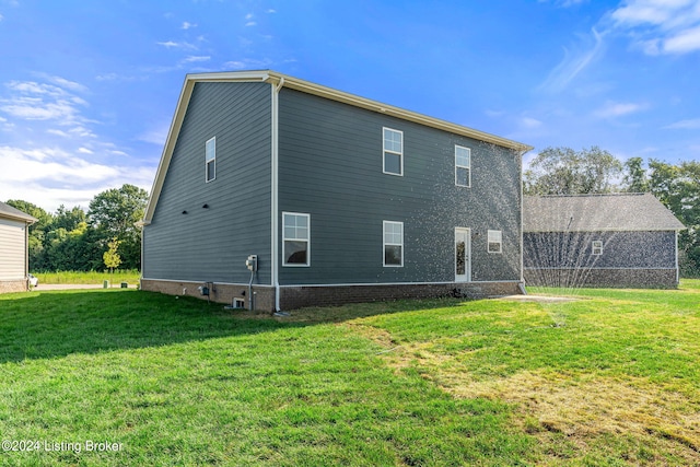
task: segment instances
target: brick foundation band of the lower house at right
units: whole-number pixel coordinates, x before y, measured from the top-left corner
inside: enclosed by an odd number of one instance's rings
[[[528,287],[599,287],[675,289],[676,269],[536,269],[523,270]]]

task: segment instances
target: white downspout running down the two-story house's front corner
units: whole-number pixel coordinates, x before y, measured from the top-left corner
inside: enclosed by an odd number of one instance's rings
[[[271,148],[271,163],[272,163],[272,178],[271,178],[271,225],[272,225],[272,245],[271,245],[271,254],[272,254],[272,271],[271,271],[271,282],[272,287],[275,287],[275,310],[273,312],[280,311],[280,258],[279,258],[279,94],[280,90],[284,85],[284,77],[280,78],[280,81],[275,84],[271,83],[272,87],[272,148]]]

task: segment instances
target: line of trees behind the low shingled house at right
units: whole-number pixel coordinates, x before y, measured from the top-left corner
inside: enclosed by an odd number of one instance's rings
[[[678,234],[684,277],[700,277],[700,163],[669,164],[655,159],[623,163],[593,147],[574,151],[547,148],[523,174],[526,195],[651,192],[686,226]]]

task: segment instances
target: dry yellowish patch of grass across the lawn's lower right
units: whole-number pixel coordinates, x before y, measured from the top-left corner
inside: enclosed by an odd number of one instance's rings
[[[416,367],[454,397],[516,404],[522,429],[542,440],[563,435],[585,452],[590,443],[606,434],[653,436],[653,443],[664,444],[666,452],[687,459],[688,465],[700,465],[700,400],[665,390],[645,378],[523,371],[480,380],[464,369],[456,355],[431,352],[431,342],[398,346],[382,329],[352,327],[386,347],[378,354],[396,371]]]

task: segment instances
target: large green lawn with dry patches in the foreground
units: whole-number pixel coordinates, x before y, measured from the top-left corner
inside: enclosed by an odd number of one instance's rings
[[[699,465],[700,281],[576,297],[0,295],[0,465]]]

